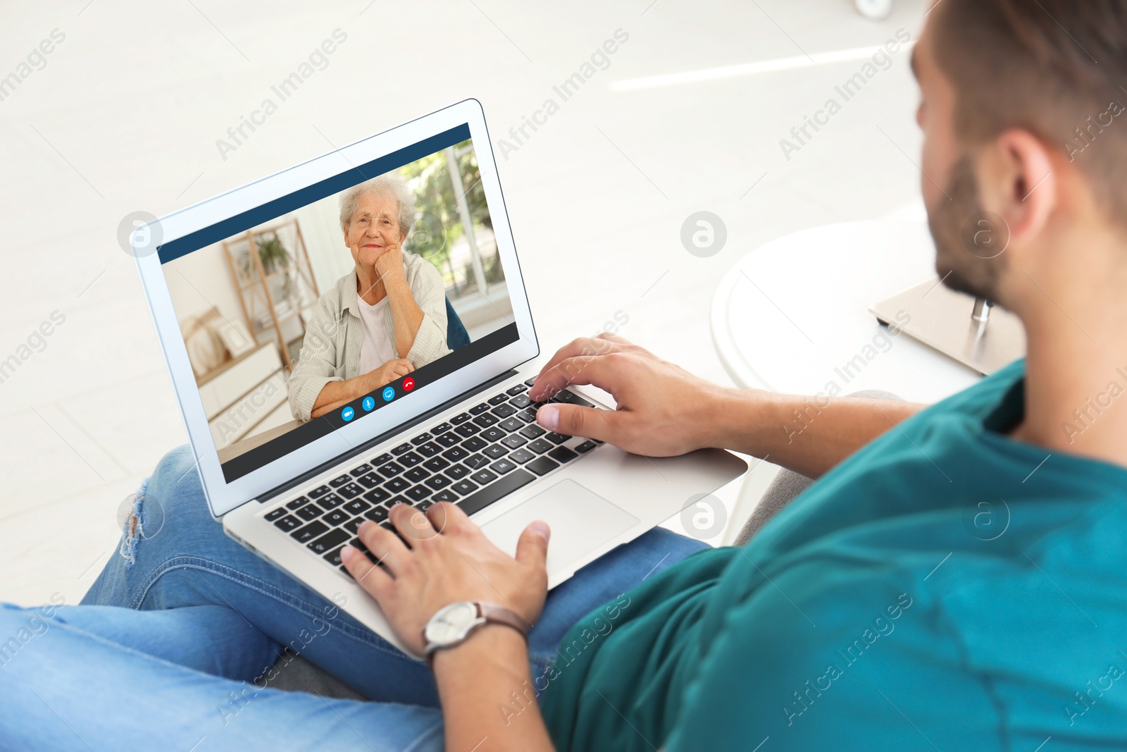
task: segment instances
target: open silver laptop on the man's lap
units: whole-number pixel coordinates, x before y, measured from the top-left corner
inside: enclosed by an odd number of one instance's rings
[[[319,357],[326,382],[357,368],[347,339],[361,325],[329,304],[355,278],[340,200],[388,174],[415,196],[405,266],[441,281],[419,304],[434,326],[435,306],[445,309],[445,342],[410,373],[312,417],[290,393],[301,359]],[[137,223],[130,237],[212,515],[400,648],[340,564],[357,527],[389,525],[392,505],[458,504],[509,554],[530,522],[547,521],[554,587],[746,470],[720,450],[646,458],[536,424],[527,391],[540,346],[474,99]],[[575,388],[552,400],[613,408]]]

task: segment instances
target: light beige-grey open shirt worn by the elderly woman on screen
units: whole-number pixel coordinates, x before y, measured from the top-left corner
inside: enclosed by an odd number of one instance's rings
[[[446,347],[446,293],[432,264],[415,254],[403,251],[403,272],[415,302],[423,309],[423,322],[415,344],[406,357],[419,368],[451,352]],[[391,347],[396,350],[391,306],[383,309]],[[309,421],[317,396],[329,381],[344,381],[357,375],[360,346],[364,342],[364,324],[356,302],[356,269],[344,275],[331,290],[321,294],[313,308],[305,339],[301,344],[298,364],[290,375],[290,412],[299,421]],[[396,357],[405,357],[396,350]]]

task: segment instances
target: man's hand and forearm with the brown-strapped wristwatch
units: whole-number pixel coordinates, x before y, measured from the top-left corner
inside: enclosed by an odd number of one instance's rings
[[[349,546],[340,559],[379,603],[408,651],[421,655],[424,625],[459,601],[496,603],[518,613],[529,628],[535,623],[548,595],[545,523],[533,522],[525,529],[514,558],[489,542],[455,504],[438,503],[426,513],[398,504],[389,520],[399,536],[374,522],[357,529],[382,566]],[[532,691],[527,649],[515,629],[490,623],[461,645],[435,652],[432,667],[447,750],[552,749]]]

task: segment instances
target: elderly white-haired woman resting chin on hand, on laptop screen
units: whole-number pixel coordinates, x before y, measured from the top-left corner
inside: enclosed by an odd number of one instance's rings
[[[415,196],[394,172],[340,196],[355,268],[317,301],[290,377],[290,410],[320,417],[451,352],[438,271],[402,242]]]

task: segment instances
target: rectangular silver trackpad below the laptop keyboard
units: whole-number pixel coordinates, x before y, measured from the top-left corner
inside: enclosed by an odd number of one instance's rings
[[[552,530],[548,575],[571,568],[587,554],[640,522],[631,514],[567,478],[486,523],[486,537],[502,550],[515,551],[521,533],[535,520]]]

